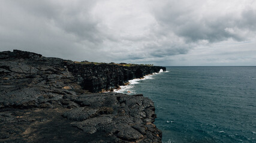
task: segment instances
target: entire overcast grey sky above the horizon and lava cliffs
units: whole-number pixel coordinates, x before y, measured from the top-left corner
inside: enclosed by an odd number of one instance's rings
[[[0,51],[106,63],[256,66],[254,0],[0,3]]]

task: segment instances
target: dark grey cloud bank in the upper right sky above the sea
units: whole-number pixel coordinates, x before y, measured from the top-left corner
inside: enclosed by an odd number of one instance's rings
[[[240,11],[237,11],[236,7],[230,10],[221,8],[221,11],[218,11],[215,9],[216,5],[207,7],[205,5],[207,1],[201,1],[200,4],[197,3],[198,1],[190,4],[189,2],[185,4],[185,2],[167,2],[162,9],[155,11],[155,17],[158,18],[164,29],[174,32],[177,36],[182,36],[187,42],[201,40],[221,42],[228,38],[245,41],[248,39],[248,35],[242,35],[242,31],[255,33],[255,7],[246,7]],[[206,7],[209,10],[202,9]],[[219,7],[226,8],[230,5],[225,6],[225,2],[219,2]],[[177,10],[177,8],[180,9]]]

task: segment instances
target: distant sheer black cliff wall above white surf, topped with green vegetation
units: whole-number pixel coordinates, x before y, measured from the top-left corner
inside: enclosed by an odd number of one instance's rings
[[[74,76],[79,77],[82,88],[91,92],[99,92],[102,89],[118,88],[128,80],[140,78],[147,74],[166,70],[158,66],[117,66],[111,64],[70,64],[68,70]]]

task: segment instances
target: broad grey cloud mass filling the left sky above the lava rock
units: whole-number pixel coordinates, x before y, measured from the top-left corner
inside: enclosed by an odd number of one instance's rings
[[[72,60],[101,56],[104,38],[89,14],[96,2],[2,1],[0,48]]]

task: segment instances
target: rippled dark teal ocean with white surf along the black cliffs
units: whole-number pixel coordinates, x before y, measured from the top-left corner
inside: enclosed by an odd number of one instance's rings
[[[256,67],[167,67],[116,92],[155,103],[162,142],[256,142]]]

